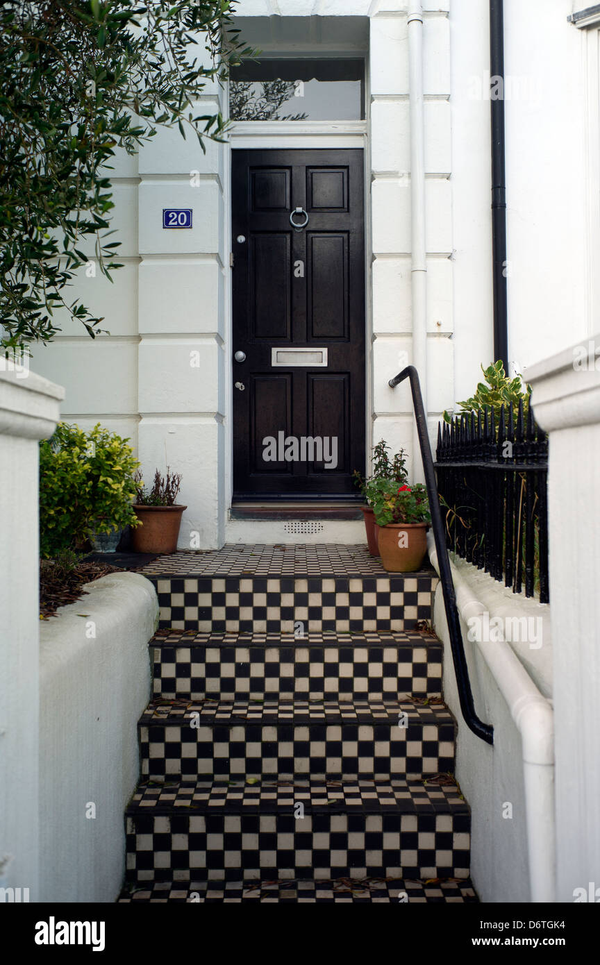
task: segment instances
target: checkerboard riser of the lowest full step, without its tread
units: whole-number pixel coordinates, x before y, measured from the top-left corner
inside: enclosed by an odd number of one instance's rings
[[[127,881],[467,878],[466,814],[129,817]]]

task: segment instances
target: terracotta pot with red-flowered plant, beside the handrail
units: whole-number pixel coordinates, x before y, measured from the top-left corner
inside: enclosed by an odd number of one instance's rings
[[[379,480],[373,487],[372,500],[382,564],[390,573],[420,569],[431,522],[425,486],[398,486],[394,480]]]

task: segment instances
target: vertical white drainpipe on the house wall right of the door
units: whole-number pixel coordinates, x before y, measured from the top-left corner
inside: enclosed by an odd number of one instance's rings
[[[410,85],[411,250],[413,299],[413,365],[419,372],[427,409],[427,258],[425,246],[425,152],[423,107],[423,3],[411,0],[408,13]],[[424,483],[419,435],[413,425],[413,477]]]

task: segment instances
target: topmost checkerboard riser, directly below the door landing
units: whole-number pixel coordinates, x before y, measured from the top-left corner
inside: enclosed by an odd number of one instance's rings
[[[408,630],[431,619],[433,576],[153,577],[161,627],[294,633]]]

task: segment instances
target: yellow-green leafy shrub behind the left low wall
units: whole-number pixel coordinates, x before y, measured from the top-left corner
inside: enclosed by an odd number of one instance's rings
[[[92,530],[136,526],[131,508],[139,462],[128,440],[98,423],[89,432],[59,423],[40,444],[40,551],[80,546]]]

